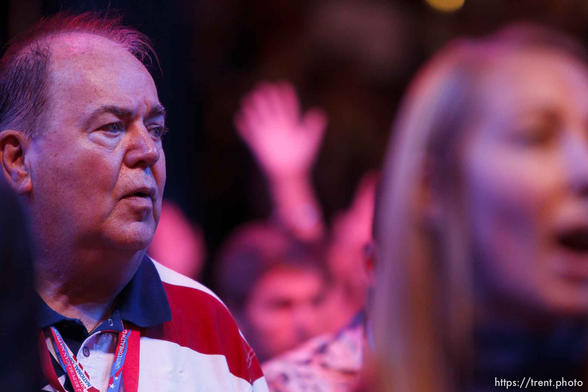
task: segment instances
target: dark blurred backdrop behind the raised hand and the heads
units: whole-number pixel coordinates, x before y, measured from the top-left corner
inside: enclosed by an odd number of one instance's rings
[[[116,9],[153,39],[161,70],[152,74],[171,129],[165,196],[202,226],[209,263],[201,280],[211,286],[223,239],[270,213],[265,180],[232,125],[256,82],[292,81],[303,106],[328,112],[313,180],[329,222],[359,177],[380,165],[407,82],[449,39],[519,19],[588,38],[586,0],[465,0],[449,13],[425,0],[0,1],[2,45],[61,9]]]

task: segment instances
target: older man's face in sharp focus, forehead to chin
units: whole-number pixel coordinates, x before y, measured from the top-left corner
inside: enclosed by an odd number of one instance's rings
[[[45,243],[145,249],[165,185],[151,75],[121,46],[85,33],[54,40],[50,74],[45,134],[29,154],[37,230]]]

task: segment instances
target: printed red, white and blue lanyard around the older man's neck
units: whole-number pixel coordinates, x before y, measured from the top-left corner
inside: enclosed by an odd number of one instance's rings
[[[52,343],[57,354],[57,360],[59,365],[61,365],[65,373],[68,375],[75,392],[100,392],[98,388],[92,385],[88,373],[83,370],[82,364],[80,364],[76,356],[71,353],[71,350],[69,350],[69,347],[67,344],[65,344],[65,341],[61,337],[59,331],[55,327],[50,328],[53,337]],[[136,335],[136,333],[138,333],[138,331],[125,329],[124,326],[122,332],[119,333],[118,344],[116,345],[115,350],[115,358],[112,363],[111,376],[108,380],[108,387],[106,388],[108,392],[111,392],[111,390],[112,392],[118,392],[119,388],[121,387],[121,376],[129,347],[129,337],[131,334]],[[138,343],[138,341],[135,343]],[[134,371],[131,370],[131,373],[134,373]]]

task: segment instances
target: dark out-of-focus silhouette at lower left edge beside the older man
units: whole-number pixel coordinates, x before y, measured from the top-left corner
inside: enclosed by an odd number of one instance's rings
[[[7,391],[38,391],[36,295],[28,225],[16,196],[0,177],[0,384]],[[34,376],[31,377],[31,374]]]

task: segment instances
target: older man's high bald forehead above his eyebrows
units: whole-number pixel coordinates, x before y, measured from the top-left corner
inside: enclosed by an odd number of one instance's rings
[[[143,100],[145,110],[159,104],[151,74],[118,43],[89,33],[64,33],[52,38],[51,43],[49,84],[55,92],[52,118],[71,116],[60,113],[61,108],[78,108],[79,118],[74,123],[83,127],[89,125],[89,117],[97,109],[106,106],[132,109],[135,114],[142,111]],[[59,102],[62,105],[56,107]],[[116,115],[117,110],[109,111]],[[161,112],[158,109],[155,114]]]

